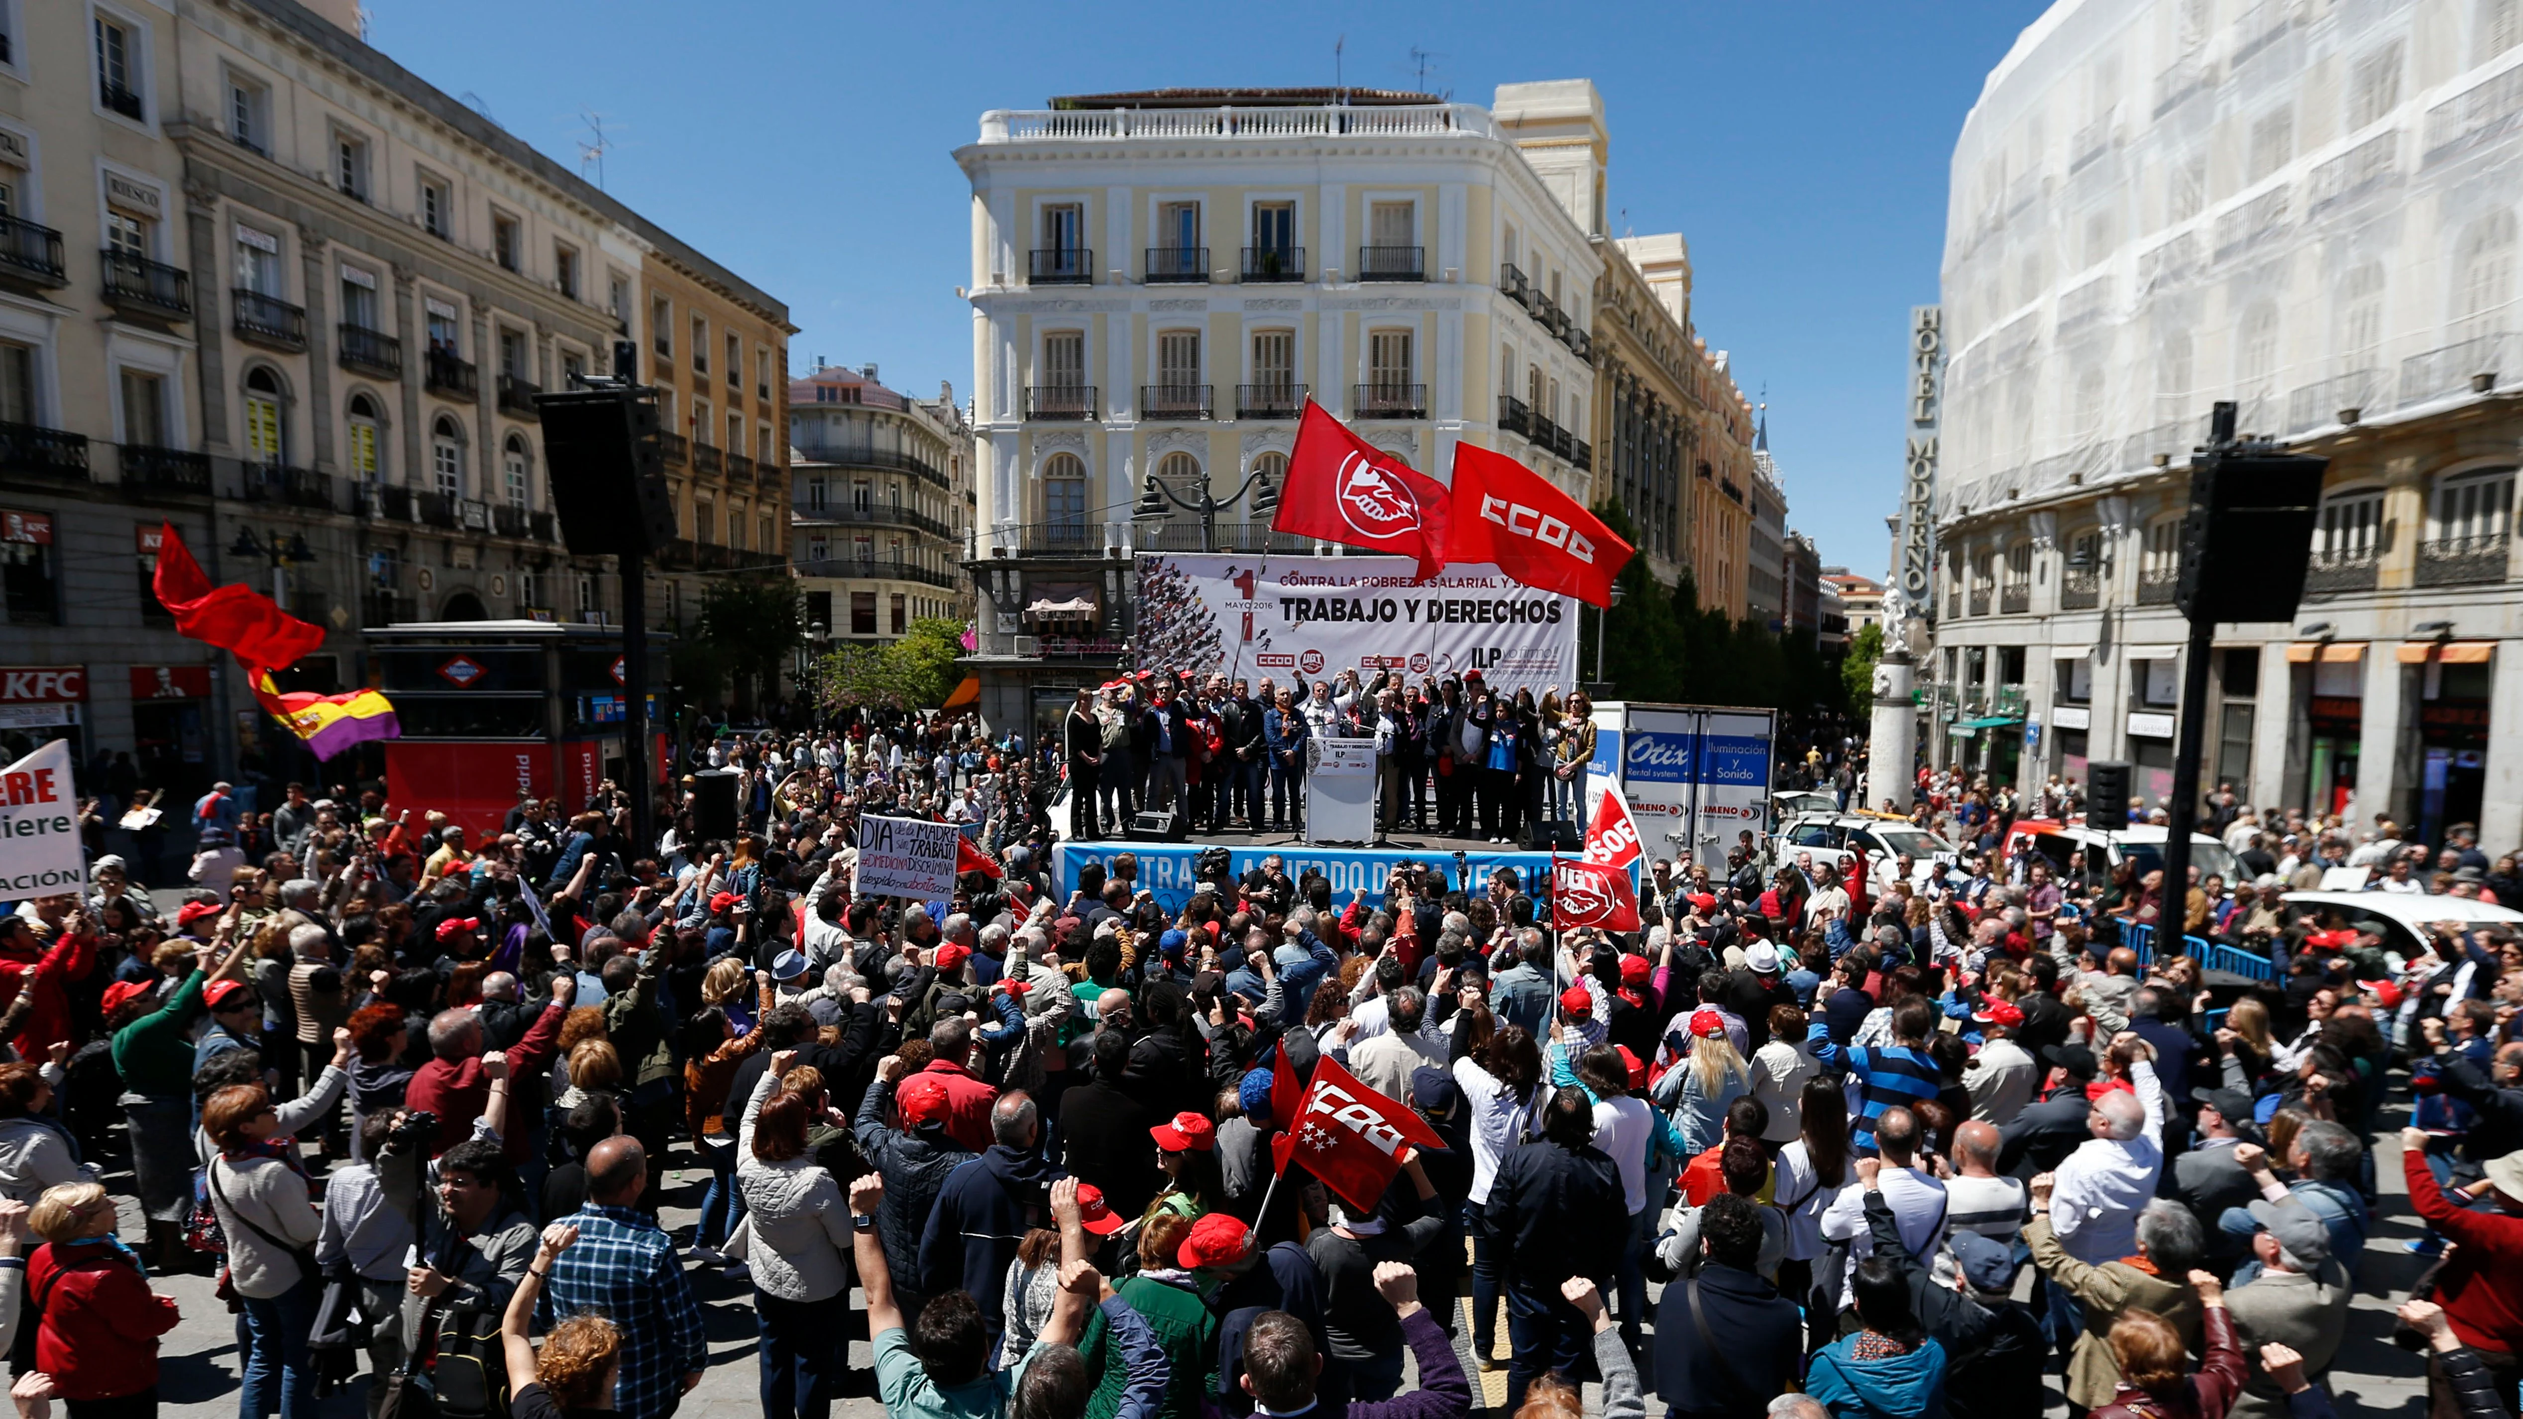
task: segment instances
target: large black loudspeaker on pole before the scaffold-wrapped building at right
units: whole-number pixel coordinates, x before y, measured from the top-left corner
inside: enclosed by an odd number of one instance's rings
[[[2293,621],[2329,460],[2208,449],[2190,462],[2190,515],[2172,603],[2190,621]]]

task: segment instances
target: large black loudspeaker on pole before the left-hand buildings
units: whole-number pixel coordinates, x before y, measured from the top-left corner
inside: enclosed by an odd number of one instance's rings
[[[570,555],[656,553],[674,543],[674,497],[653,389],[568,389],[535,399],[542,465]]]

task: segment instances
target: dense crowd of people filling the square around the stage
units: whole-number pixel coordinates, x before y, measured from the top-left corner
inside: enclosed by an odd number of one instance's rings
[[[1267,689],[1264,740],[1312,715]],[[1471,694],[1489,735],[1526,722]],[[1620,937],[1554,932],[1511,869],[1405,861],[1345,899],[1274,856],[1203,853],[1163,901],[1130,853],[1055,879],[1057,768],[1092,816],[1108,712],[1133,755],[1158,725],[1120,788],[1259,810],[1163,763],[1259,704],[1133,682],[1032,747],[944,717],[711,737],[653,841],[611,785],[477,833],[290,785],[267,818],[194,805],[192,881],[98,856],[86,896],[0,917],[20,1411],[154,1411],[154,1283],[214,1273],[245,1419],[361,1374],[396,1419],[664,1419],[711,1366],[711,1273],[780,1419],[1458,1419],[1486,1396],[1456,1341],[1529,1419],[1579,1419],[1582,1381],[1625,1419],[2031,1416],[2046,1374],[2074,1414],[2311,1416],[2392,1167],[2435,1255],[2402,1326],[2437,1411],[2515,1411],[2510,932],[2392,947],[2278,909],[2276,980],[2210,987],[2140,959],[2142,901],[1993,851],[1655,861]],[[727,770],[739,826],[709,836]],[[870,810],[986,866],[860,894]],[[2245,818],[2218,828],[2293,831]],[[2460,874],[2475,843],[2440,851]],[[2382,879],[2412,853],[2389,826],[2346,851]],[[1443,1141],[1373,1204],[1282,1146],[1307,1121],[1274,1078],[1322,1060]],[[2377,1159],[2399,1068],[2412,1129]],[[669,1169],[704,1179],[689,1227]]]

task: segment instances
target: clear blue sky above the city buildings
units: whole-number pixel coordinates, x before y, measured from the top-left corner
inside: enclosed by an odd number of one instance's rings
[[[1935,300],[1945,164],[2041,0],[979,8],[711,0],[368,0],[371,38],[790,306],[790,366],[875,361],[971,386],[969,187],[984,109],[1110,88],[1420,81],[1489,104],[1592,78],[1615,230],[1690,240],[1698,328],[1769,386],[1789,523],[1885,571],[1910,306]],[[593,169],[590,169],[593,172]]]

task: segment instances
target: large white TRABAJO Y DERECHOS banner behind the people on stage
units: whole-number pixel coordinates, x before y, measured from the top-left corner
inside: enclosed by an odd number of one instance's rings
[[[1463,674],[1577,687],[1577,601],[1494,566],[1413,583],[1410,558],[1138,555],[1138,664],[1236,679]]]

